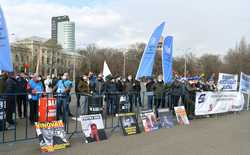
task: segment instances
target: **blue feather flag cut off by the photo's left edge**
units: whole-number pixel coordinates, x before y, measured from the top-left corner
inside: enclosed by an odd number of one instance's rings
[[[0,6],[0,70],[9,72],[13,71],[8,31],[1,6]]]

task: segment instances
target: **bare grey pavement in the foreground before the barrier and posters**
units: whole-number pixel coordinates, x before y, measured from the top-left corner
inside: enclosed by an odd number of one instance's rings
[[[71,147],[53,155],[250,155],[250,112],[196,119],[190,126],[176,125],[124,137],[121,130],[108,132],[109,139],[83,144],[74,136]],[[44,154],[38,140],[0,144],[1,155]]]

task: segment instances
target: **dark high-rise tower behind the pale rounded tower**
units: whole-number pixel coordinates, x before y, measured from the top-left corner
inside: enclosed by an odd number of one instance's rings
[[[51,39],[54,39],[57,41],[57,27],[58,23],[69,21],[69,16],[57,16],[51,18]]]

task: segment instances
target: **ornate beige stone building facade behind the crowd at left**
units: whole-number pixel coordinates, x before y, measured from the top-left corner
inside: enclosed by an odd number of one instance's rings
[[[77,71],[81,65],[82,56],[64,52],[62,48],[51,46],[44,40],[46,39],[31,37],[11,45],[15,71],[37,71],[44,76],[69,72],[73,77],[74,69]]]

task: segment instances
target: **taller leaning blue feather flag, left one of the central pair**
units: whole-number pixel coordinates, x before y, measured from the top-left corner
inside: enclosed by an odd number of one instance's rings
[[[151,35],[148,45],[143,52],[141,62],[140,62],[135,79],[138,80],[139,78],[143,76],[152,76],[156,49],[160,41],[164,26],[165,26],[165,22],[161,23],[161,25],[159,25],[154,30],[153,34]]]

